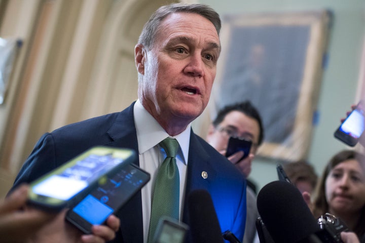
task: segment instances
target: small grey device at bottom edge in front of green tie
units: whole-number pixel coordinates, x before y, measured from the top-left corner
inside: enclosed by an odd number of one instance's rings
[[[170,218],[162,218],[157,226],[154,243],[182,243],[189,226]]]

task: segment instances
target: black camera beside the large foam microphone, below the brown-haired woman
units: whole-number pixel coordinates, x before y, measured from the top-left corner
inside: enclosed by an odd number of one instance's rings
[[[317,236],[322,242],[334,242],[343,243],[341,240],[341,232],[348,231],[345,223],[335,216],[326,213],[317,219],[318,225],[321,230],[317,233]]]

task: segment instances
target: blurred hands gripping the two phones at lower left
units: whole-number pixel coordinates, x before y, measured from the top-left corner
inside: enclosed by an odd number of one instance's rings
[[[0,238],[8,242],[84,242],[98,243],[112,240],[120,220],[111,215],[106,225],[94,225],[93,234],[82,235],[64,220],[67,210],[49,213],[27,207],[29,186],[20,185],[0,202]]]

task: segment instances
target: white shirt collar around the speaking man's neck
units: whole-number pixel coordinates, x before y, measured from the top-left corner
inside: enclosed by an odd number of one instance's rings
[[[134,107],[134,124],[136,126],[138,153],[142,154],[160,143],[167,137],[171,137],[161,127],[157,120],[143,107],[139,99],[135,102]],[[188,163],[189,144],[190,144],[191,123],[180,134],[173,136],[180,145],[184,163]]]

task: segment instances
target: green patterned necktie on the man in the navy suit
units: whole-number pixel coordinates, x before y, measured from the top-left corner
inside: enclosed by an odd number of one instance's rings
[[[159,168],[155,181],[149,243],[154,242],[155,231],[161,217],[168,216],[176,220],[179,218],[180,179],[175,158],[179,144],[174,138],[166,138],[159,144],[167,156]]]

